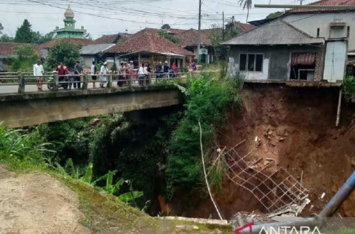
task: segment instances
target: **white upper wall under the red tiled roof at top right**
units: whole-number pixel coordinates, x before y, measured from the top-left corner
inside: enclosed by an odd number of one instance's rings
[[[317,29],[320,29],[320,37],[329,39],[347,36],[347,26],[350,26],[349,50],[355,50],[355,12],[334,12],[316,14],[294,14],[283,18],[285,22],[306,32],[312,37],[317,37]],[[345,23],[342,30],[333,30],[330,34],[330,24]]]

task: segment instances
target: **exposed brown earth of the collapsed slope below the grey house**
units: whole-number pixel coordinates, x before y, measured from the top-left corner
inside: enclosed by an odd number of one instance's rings
[[[335,127],[339,88],[300,88],[272,84],[245,84],[243,111],[231,110],[220,132],[219,144],[237,148],[240,155],[253,151],[258,163],[272,174],[283,167],[308,190],[311,203],[302,216],[319,213],[355,169],[355,106],[343,103],[340,126]],[[355,125],[355,123],[354,123]],[[255,141],[257,139],[257,141]],[[260,159],[262,158],[262,159]],[[322,193],[325,196],[321,198]],[[267,212],[249,191],[224,178],[216,201],[225,218],[239,211]],[[209,199],[200,199],[191,217],[215,216]],[[312,209],[310,209],[312,207]],[[355,216],[355,195],[339,210]]]

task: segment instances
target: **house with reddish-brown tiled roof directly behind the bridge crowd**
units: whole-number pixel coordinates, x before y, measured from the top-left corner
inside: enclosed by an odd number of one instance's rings
[[[131,37],[117,42],[106,50],[106,57],[113,57],[118,65],[120,61],[133,61],[135,67],[141,63],[150,63],[152,67],[158,62],[176,63],[182,69],[188,57],[193,53],[159,35],[159,30],[143,29]]]

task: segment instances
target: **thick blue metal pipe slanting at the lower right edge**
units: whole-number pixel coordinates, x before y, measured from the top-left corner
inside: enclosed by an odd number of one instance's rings
[[[331,198],[328,204],[320,212],[321,216],[331,217],[336,210],[343,204],[344,200],[353,192],[355,189],[355,171],[345,182],[345,184],[340,188],[340,190]]]

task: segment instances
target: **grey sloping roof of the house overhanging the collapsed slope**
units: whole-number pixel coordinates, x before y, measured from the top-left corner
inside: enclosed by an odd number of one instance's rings
[[[222,42],[223,45],[319,44],[323,38],[313,38],[283,20],[275,20],[245,34]]]

